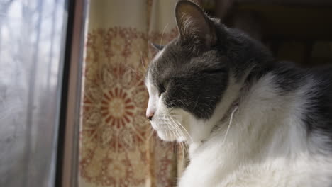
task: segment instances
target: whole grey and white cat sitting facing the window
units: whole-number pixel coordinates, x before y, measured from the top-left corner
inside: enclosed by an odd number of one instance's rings
[[[332,68],[277,62],[191,1],[175,19],[145,85],[157,135],[189,145],[177,186],[332,186]]]

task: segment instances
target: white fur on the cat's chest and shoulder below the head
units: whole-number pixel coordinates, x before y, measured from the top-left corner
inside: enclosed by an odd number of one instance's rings
[[[228,123],[206,142],[190,145],[179,187],[331,186],[331,156],[313,154],[301,120],[308,88],[277,96],[271,79],[262,79],[241,101],[226,141]]]

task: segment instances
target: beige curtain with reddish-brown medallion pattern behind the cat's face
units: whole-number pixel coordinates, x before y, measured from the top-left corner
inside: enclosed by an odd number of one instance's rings
[[[177,35],[175,0],[91,0],[84,64],[79,186],[175,186],[175,144],[145,118],[145,67]],[[179,154],[182,155],[182,154]],[[179,164],[181,168],[181,164]]]

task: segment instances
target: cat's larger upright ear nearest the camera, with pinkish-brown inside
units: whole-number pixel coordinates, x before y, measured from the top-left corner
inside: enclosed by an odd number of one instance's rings
[[[204,11],[191,1],[178,1],[175,6],[175,18],[180,38],[189,38],[194,42],[210,47],[216,43],[216,28]]]

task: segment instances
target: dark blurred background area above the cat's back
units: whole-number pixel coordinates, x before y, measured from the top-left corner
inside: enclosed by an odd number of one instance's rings
[[[211,15],[264,43],[277,57],[303,67],[332,62],[332,1],[203,0]]]

